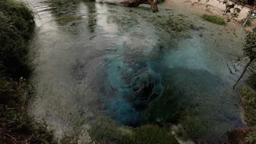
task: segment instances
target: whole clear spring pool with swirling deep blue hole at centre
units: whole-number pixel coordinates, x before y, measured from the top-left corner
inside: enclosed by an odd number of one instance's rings
[[[190,136],[201,139],[241,126],[231,89],[236,76],[226,64],[240,53],[242,37],[228,27],[175,4],[152,13],[147,5],[29,2],[38,14],[31,111],[57,137],[81,118],[100,115],[133,127],[197,124]]]

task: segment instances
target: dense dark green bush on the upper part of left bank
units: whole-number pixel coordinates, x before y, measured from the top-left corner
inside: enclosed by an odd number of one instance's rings
[[[21,2],[0,1],[0,73],[14,79],[31,73],[28,44],[34,31],[33,13]]]

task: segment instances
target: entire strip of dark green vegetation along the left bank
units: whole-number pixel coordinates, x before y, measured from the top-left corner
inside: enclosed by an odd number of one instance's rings
[[[1,0],[0,19],[0,143],[55,143],[46,125],[26,111],[33,12],[24,3]]]

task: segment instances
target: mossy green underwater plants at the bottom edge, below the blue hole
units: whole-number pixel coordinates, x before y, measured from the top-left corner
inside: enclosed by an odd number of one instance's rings
[[[104,143],[123,144],[176,144],[178,141],[167,130],[157,125],[143,125],[132,128],[120,125],[113,119],[97,118],[88,130],[92,140]]]

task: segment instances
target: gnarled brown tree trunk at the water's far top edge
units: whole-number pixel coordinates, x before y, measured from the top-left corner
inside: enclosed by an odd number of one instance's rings
[[[150,4],[151,9],[155,13],[158,11],[158,1],[157,0],[125,0],[121,4],[127,7],[138,7],[140,4]]]

